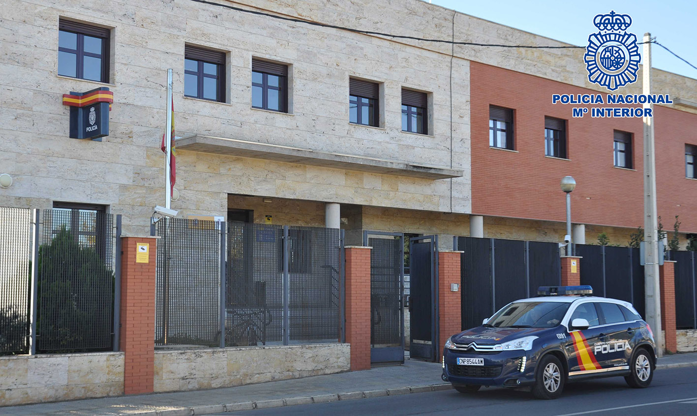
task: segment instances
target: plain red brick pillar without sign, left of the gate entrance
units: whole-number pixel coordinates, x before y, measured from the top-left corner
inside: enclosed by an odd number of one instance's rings
[[[351,371],[370,369],[370,247],[346,247],[346,342]]]

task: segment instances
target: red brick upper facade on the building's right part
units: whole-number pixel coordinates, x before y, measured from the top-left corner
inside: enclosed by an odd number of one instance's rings
[[[553,105],[552,94],[595,91],[482,63],[470,63],[470,79],[473,214],[563,222],[559,182],[571,175],[578,184],[571,194],[573,222],[643,226],[641,118],[572,118],[574,105]],[[489,105],[514,109],[517,153],[489,148]],[[681,231],[697,232],[697,181],[684,173],[684,144],[697,144],[697,115],[654,111],[658,213],[666,229],[680,215]],[[570,160],[544,156],[544,116],[567,120]],[[634,134],[636,171],[613,167],[613,130]]]

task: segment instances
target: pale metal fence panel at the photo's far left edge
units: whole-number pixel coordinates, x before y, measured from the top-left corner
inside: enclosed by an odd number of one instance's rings
[[[31,217],[0,207],[0,354],[29,353]]]

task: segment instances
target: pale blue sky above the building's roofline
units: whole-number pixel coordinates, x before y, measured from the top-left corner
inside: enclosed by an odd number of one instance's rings
[[[426,0],[428,1],[428,0]],[[631,16],[627,31],[641,42],[646,32],[697,66],[697,1],[568,1],[568,0],[431,0],[439,6],[481,17],[516,29],[536,33],[572,45],[588,45],[588,35],[597,32],[593,17],[615,13]],[[653,68],[697,79],[697,69],[680,61],[658,45],[652,45]]]

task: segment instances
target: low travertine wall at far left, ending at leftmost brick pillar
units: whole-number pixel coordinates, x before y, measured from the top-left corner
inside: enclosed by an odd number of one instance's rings
[[[3,406],[120,394],[123,353],[0,357]]]

